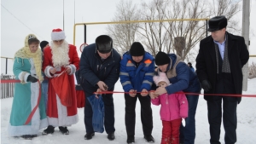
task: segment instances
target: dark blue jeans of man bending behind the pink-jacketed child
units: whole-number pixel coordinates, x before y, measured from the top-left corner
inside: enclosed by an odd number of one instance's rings
[[[189,102],[189,116],[185,118],[186,125],[180,126],[180,141],[184,144],[195,143],[195,112],[198,103],[199,95],[186,95]]]

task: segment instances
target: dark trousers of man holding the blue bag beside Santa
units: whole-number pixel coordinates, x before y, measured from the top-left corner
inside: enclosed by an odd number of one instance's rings
[[[95,96],[95,95],[91,95],[91,96]],[[105,108],[104,126],[107,134],[110,134],[115,131],[113,95],[102,95],[102,99],[104,101],[104,108]],[[85,99],[84,124],[85,124],[86,133],[94,132],[92,127],[92,114],[93,112],[92,112],[92,107],[90,105],[90,102]]]

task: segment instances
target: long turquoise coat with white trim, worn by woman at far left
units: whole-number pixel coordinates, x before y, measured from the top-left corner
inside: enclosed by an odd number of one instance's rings
[[[24,81],[25,84],[15,84],[15,95],[12,104],[10,119],[9,119],[9,135],[38,135],[38,130],[48,126],[48,121],[45,112],[44,97],[42,95],[41,84],[27,82],[29,75],[36,77],[36,69],[32,59],[21,59],[15,57],[13,72],[16,79]],[[22,73],[25,73],[24,75]],[[38,103],[39,93],[41,91],[41,98],[39,100],[38,108],[32,115],[30,123],[25,124],[32,109]]]

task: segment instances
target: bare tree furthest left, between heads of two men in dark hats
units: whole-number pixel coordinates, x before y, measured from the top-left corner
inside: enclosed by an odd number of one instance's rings
[[[131,0],[121,0],[117,6],[117,11],[113,18],[113,21],[131,21],[139,20],[139,10],[137,6],[132,4]],[[139,24],[138,23],[128,23],[128,24],[117,24],[108,25],[107,31],[109,35],[113,37],[113,46],[119,52],[119,54],[124,54],[131,47],[136,39],[136,32]]]

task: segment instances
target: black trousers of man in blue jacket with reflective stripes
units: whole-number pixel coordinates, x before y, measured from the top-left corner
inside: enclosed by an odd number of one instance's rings
[[[135,135],[136,102],[137,98],[141,103],[141,120],[143,124],[143,134],[151,135],[153,130],[153,118],[151,109],[151,99],[149,96],[137,94],[135,97],[125,94],[125,126],[127,135]]]

